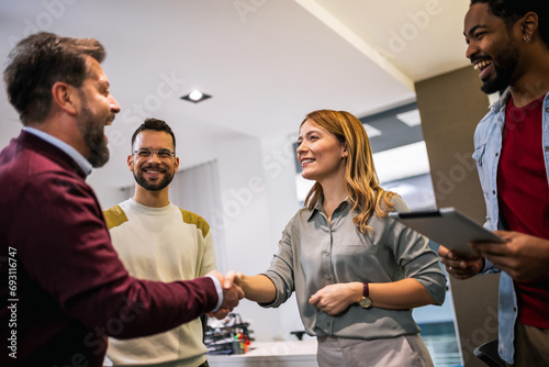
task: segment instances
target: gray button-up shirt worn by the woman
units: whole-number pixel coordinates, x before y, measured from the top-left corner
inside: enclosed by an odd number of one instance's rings
[[[400,197],[394,210],[408,211]],[[309,304],[309,298],[327,285],[368,281],[391,282],[404,278],[419,281],[441,304],[446,278],[428,238],[390,218],[372,215],[371,232],[361,234],[348,200],[332,214],[328,224],[318,200],[313,210],[300,210],[288,223],[278,254],[265,273],[277,288],[277,298],[264,307],[279,307],[295,291],[301,319],[310,335],[372,340],[415,334],[419,327],[412,310],[363,309],[358,303],[329,316]]]

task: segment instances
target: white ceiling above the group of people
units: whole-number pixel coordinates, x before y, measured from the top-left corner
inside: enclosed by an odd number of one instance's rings
[[[166,120],[181,167],[208,145],[296,134],[315,109],[357,116],[413,101],[415,81],[468,65],[460,0],[2,0],[0,59],[43,30],[96,37],[122,112],[108,127],[111,162],[94,175],[128,184],[128,138]],[[213,98],[179,98],[201,89]],[[0,147],[20,130],[0,92]],[[199,152],[200,154],[197,154]]]

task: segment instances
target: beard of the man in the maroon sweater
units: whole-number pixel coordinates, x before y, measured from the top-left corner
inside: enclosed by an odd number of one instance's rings
[[[78,130],[82,134],[83,142],[90,148],[89,155],[86,157],[92,167],[103,167],[109,162],[109,148],[103,136],[103,125],[99,126],[97,118],[91,113],[88,102],[83,96],[82,112],[78,122]]]

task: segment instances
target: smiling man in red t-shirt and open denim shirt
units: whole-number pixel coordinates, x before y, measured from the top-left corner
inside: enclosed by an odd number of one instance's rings
[[[478,258],[440,247],[448,273],[500,276],[498,352],[512,366],[549,366],[549,7],[539,0],[472,0],[467,57],[482,90],[505,90],[474,133],[485,227],[505,244]]]

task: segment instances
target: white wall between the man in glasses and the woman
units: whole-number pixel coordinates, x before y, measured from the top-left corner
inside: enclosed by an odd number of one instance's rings
[[[288,148],[290,145],[290,148]],[[294,165],[287,138],[232,140],[217,145],[229,268],[247,275],[265,271],[283,227],[298,210]],[[244,300],[235,310],[258,341],[292,340],[303,330],[292,297],[279,309]]]

